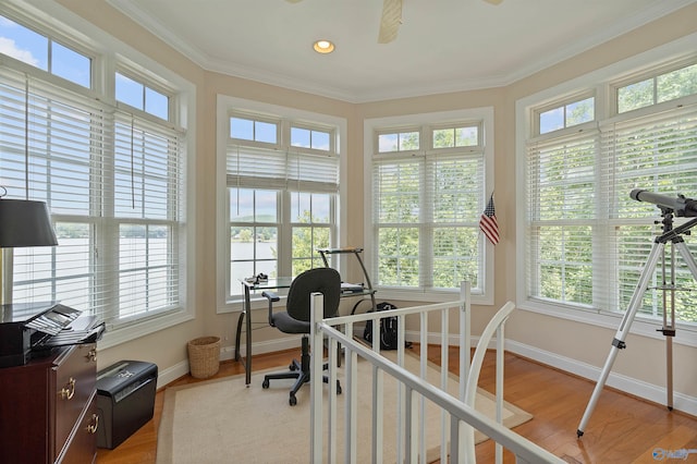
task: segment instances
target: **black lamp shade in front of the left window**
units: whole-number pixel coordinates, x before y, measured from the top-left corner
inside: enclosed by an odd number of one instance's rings
[[[0,199],[0,247],[56,245],[58,240],[46,203]]]

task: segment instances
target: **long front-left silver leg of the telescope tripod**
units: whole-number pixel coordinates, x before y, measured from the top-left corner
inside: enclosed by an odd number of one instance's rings
[[[641,307],[641,301],[644,300],[644,293],[646,293],[646,289],[648,288],[649,280],[651,276],[653,276],[653,270],[656,269],[656,264],[658,262],[658,258],[660,256],[660,252],[663,248],[663,244],[659,242],[653,242],[653,246],[651,247],[651,253],[649,253],[648,260],[641,274],[639,276],[639,281],[637,282],[636,289],[634,290],[634,294],[632,295],[632,301],[629,302],[629,307],[627,308],[624,317],[622,318],[622,322],[620,323],[620,328],[617,329],[614,339],[612,340],[612,347],[610,349],[610,354],[606,359],[606,364],[602,367],[602,371],[600,373],[600,377],[598,378],[598,382],[596,383],[596,388],[590,395],[590,400],[588,401],[588,405],[586,406],[586,411],[584,413],[583,418],[580,419],[580,424],[578,425],[578,429],[576,430],[576,435],[580,438],[584,435],[584,430],[586,429],[586,425],[590,419],[590,415],[592,411],[596,408],[596,404],[598,403],[598,399],[600,398],[600,393],[602,392],[602,388],[608,380],[608,376],[610,375],[610,370],[612,370],[612,365],[614,364],[614,359],[617,357],[617,350],[622,350],[625,347],[624,340],[629,332],[629,328],[632,327],[632,322],[634,321],[634,317],[636,316],[637,310]]]

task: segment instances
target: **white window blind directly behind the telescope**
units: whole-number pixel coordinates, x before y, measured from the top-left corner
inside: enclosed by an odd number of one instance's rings
[[[606,229],[609,256],[614,258],[610,266],[616,266],[619,290],[614,298],[609,298],[608,306],[624,310],[648,258],[652,237],[661,233],[661,224],[655,224],[661,219],[659,208],[632,199],[629,193],[641,188],[672,197],[697,196],[697,105],[659,107],[644,115],[627,114],[601,124],[601,134],[600,184],[607,186],[602,195],[608,198],[603,213],[609,222]],[[675,218],[674,225],[683,221]],[[685,242],[693,256],[697,256],[695,241],[686,237]],[[670,253],[667,256],[670,266]],[[675,259],[677,286],[694,288],[696,282],[680,255]],[[652,288],[661,282],[658,268]],[[650,289],[640,312],[661,316],[661,292]],[[693,292],[675,293],[675,307],[682,320],[697,322],[696,304]]]

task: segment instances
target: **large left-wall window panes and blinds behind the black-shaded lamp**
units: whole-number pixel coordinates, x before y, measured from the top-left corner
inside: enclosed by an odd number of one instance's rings
[[[87,56],[14,21],[0,20],[0,42],[12,44],[0,64],[0,185],[47,202],[59,242],[14,249],[12,301],[61,301],[109,332],[185,312],[187,138],[170,115],[176,91],[154,91],[149,75],[131,75],[126,90],[112,71],[117,94],[106,95],[90,73],[118,63],[90,70]]]

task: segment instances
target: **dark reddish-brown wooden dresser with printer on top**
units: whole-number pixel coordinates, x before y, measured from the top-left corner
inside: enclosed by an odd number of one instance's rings
[[[94,463],[97,346],[0,368],[0,463]]]

